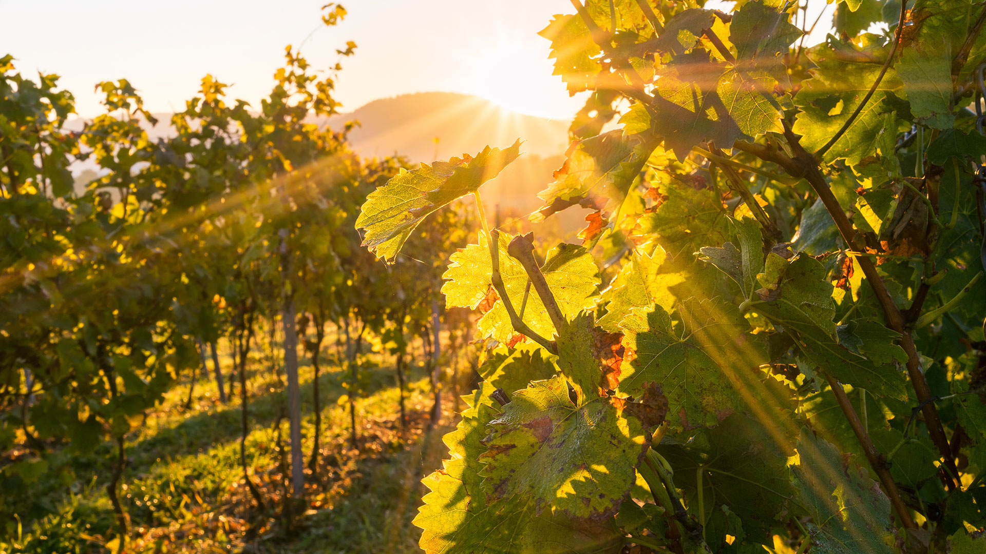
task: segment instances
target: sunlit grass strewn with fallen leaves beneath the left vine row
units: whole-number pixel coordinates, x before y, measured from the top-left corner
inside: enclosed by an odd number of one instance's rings
[[[239,384],[237,398],[222,404],[211,378],[190,383],[186,377],[127,436],[128,460],[118,491],[130,520],[127,552],[419,552],[420,530],[411,519],[426,492],[420,479],[440,466],[447,453],[441,437],[451,429],[428,429],[432,400],[424,369],[408,368],[409,421],[402,432],[392,365],[380,354],[359,358],[354,394],[359,441],[353,449],[346,399],[354,391],[348,373],[327,350],[323,353],[320,462],[314,470],[306,468],[300,515],[285,519],[280,507],[290,490],[290,452],[284,376],[277,371],[279,353],[272,357],[269,345],[261,346],[247,362],[246,458],[266,510],[256,510],[240,465]],[[301,362],[307,464],[315,425],[314,374],[309,360]],[[221,356],[220,364],[229,379],[232,361]],[[189,385],[193,401],[184,409]],[[450,403],[445,402],[447,424],[453,422]],[[0,554],[114,548],[105,490],[112,452],[107,444],[93,456],[69,459],[71,479],[57,472],[41,476],[32,487],[52,491],[46,506],[51,515],[20,527],[9,523]]]

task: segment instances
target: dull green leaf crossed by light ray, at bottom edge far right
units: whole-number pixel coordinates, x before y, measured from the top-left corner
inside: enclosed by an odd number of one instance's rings
[[[792,467],[801,503],[808,509],[812,552],[892,554],[890,501],[867,470],[843,469],[842,454],[830,443],[802,431],[799,464]]]

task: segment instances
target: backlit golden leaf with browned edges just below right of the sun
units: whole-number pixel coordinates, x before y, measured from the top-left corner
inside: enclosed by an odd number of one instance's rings
[[[559,200],[576,203],[584,198],[599,199],[601,202],[594,202],[598,208],[613,212],[623,203],[655,148],[656,141],[618,129],[573,142],[565,164],[554,173],[555,181],[537,194],[545,206],[531,220],[543,219],[542,211]]]

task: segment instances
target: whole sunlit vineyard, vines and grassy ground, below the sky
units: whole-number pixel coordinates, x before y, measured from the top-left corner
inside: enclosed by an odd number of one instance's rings
[[[986,5],[819,3],[572,0],[508,218],[525,137],[318,123],[353,42],[78,131],[0,58],[0,554],[986,552]]]

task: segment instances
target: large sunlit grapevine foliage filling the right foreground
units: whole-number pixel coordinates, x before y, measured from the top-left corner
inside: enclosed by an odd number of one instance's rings
[[[842,1],[804,47],[798,3],[574,4],[541,35],[594,94],[534,217],[594,210],[584,245],[532,252],[449,172],[427,209],[401,176],[357,222],[387,260],[461,194],[483,227],[443,292],[495,350],[424,479],[422,548],[974,548],[986,10]]]

